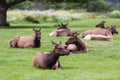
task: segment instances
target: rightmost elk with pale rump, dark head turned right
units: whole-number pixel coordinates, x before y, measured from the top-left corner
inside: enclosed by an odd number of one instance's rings
[[[82,37],[87,40],[106,40],[111,41],[113,39],[113,34],[118,34],[116,26],[111,26],[107,29],[94,29],[83,32]]]

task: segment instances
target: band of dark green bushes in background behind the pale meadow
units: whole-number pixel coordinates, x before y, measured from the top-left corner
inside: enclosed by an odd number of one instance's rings
[[[10,0],[8,0],[9,2]],[[115,9],[119,10],[120,4],[112,4],[105,0],[32,0],[25,1],[21,4],[15,5],[10,9],[86,9],[89,12],[107,12]]]

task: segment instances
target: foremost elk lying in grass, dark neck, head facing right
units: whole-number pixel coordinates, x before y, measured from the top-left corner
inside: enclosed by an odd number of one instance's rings
[[[61,45],[56,44],[52,41],[54,46],[51,52],[39,52],[37,56],[33,59],[33,66],[43,69],[57,69],[60,68],[59,57],[64,55],[69,55],[69,51]]]

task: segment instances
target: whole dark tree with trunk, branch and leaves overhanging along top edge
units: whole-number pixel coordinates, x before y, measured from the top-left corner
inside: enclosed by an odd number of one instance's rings
[[[0,26],[9,26],[9,23],[7,23],[7,10],[10,7],[22,3],[24,1],[34,1],[34,2],[40,1],[42,3],[77,2],[77,3],[85,4],[85,3],[89,3],[90,1],[96,1],[96,0],[0,0]]]

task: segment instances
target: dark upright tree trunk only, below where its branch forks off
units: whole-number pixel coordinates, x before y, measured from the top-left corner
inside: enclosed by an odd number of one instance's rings
[[[0,6],[0,26],[9,26],[7,23],[7,8]]]

